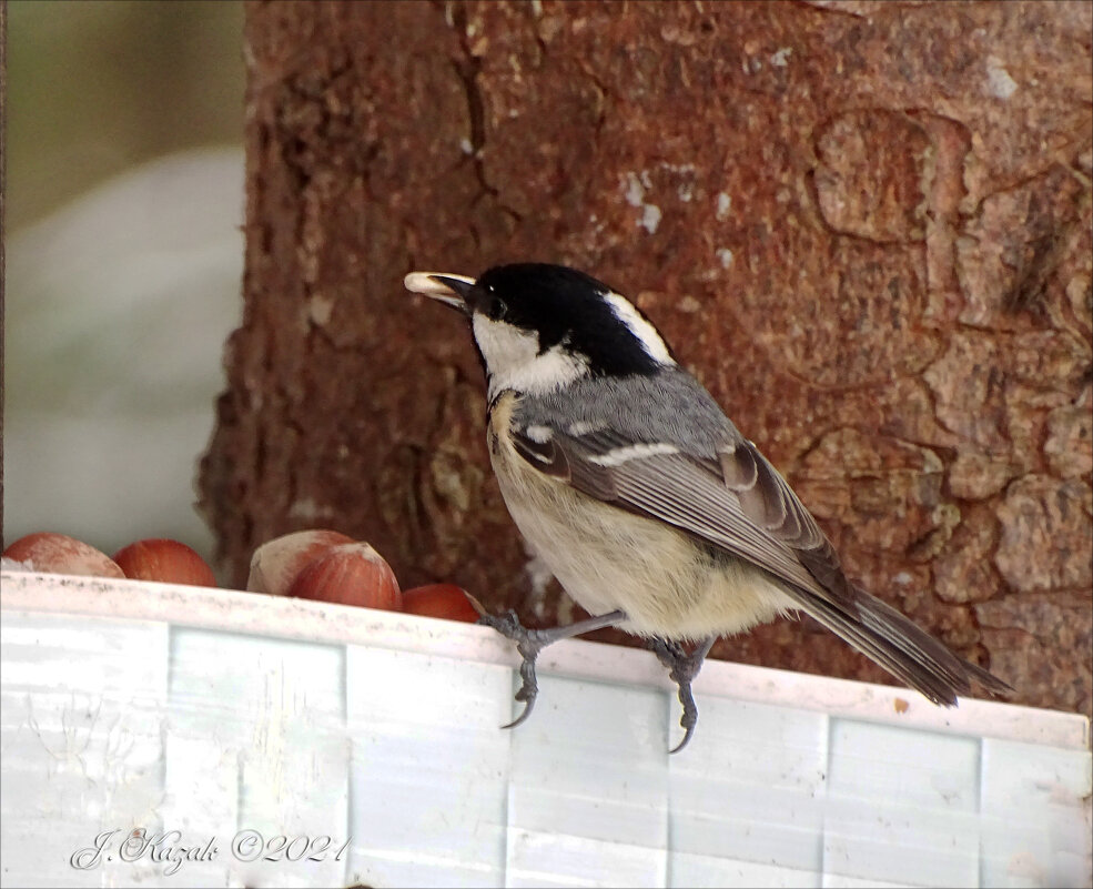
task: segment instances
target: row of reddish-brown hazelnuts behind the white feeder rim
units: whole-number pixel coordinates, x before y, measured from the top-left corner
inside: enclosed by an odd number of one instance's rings
[[[113,558],[64,534],[39,532],[3,550],[28,570],[93,577],[128,577],[166,584],[215,587],[205,560],[178,541],[136,541]],[[406,612],[475,623],[478,614],[454,584],[429,584],[405,592],[391,566],[368,544],[336,531],[297,531],[262,544],[251,557],[246,588],[271,596]]]

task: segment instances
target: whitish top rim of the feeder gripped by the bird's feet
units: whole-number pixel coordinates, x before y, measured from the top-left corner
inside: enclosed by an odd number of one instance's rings
[[[0,572],[0,609],[165,622],[518,665],[512,643],[487,627],[233,589],[4,570]],[[651,653],[617,645],[567,639],[546,648],[538,666],[544,673],[573,678],[675,689]],[[699,704],[701,696],[712,695],[919,730],[1090,748],[1090,721],[1077,714],[975,698],[963,698],[959,707],[947,709],[907,688],[726,660],[706,663],[695,693]]]

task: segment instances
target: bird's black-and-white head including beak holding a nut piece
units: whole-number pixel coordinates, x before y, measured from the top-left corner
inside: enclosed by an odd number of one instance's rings
[[[585,374],[651,374],[675,364],[649,321],[595,277],[564,265],[497,265],[477,280],[414,272],[407,290],[470,316],[490,377],[515,375],[532,388]]]

